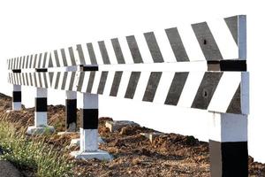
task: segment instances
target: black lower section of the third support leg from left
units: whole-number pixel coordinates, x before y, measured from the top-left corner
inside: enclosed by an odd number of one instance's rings
[[[66,129],[68,129],[72,123],[75,123],[75,125],[77,125],[77,99],[66,99],[65,105],[65,127]]]

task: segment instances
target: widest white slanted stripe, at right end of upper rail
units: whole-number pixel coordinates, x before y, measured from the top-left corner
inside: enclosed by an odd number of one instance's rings
[[[208,27],[215,38],[216,44],[223,59],[239,58],[239,48],[224,19],[207,22]]]

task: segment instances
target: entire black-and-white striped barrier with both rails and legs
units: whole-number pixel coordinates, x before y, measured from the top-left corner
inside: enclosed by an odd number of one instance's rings
[[[208,71],[137,69],[141,64],[198,61],[205,62]],[[123,66],[113,70],[113,65]],[[63,71],[57,71],[59,67]],[[128,71],[128,67],[135,69]],[[249,76],[244,15],[11,58],[8,69],[14,110],[21,105],[21,85],[37,88],[34,127],[48,126],[47,89],[66,91],[66,117],[72,119],[67,120],[67,128],[76,124],[76,93],[82,93],[80,151],[72,153],[77,158],[110,158],[98,150],[98,95],[116,96],[212,112],[211,174],[247,176]]]

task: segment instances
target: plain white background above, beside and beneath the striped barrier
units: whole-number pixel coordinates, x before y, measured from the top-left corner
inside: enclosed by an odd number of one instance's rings
[[[263,1],[264,2],[264,1]],[[265,163],[265,117],[263,115],[264,4],[262,1],[67,1],[67,0],[1,0],[0,1],[0,92],[11,95],[7,83],[6,59],[67,47],[79,42],[92,42],[117,36],[133,35],[178,24],[247,15],[247,65],[250,72],[249,153]],[[34,104],[34,89],[23,89],[23,104]],[[50,92],[49,104],[64,104],[63,92]],[[129,101],[126,101],[129,102]],[[103,105],[105,104],[105,105]],[[105,99],[102,114],[126,118],[165,132],[196,135],[208,139],[208,114],[201,111],[162,108],[145,104],[120,109],[117,101]],[[126,104],[126,103],[124,103]],[[113,106],[115,105],[115,106]],[[141,108],[141,112],[137,111]],[[143,109],[145,108],[145,109]],[[152,109],[151,109],[152,108]],[[174,109],[174,110],[173,110]],[[158,111],[159,112],[158,112]],[[120,112],[118,112],[120,111]],[[118,113],[117,113],[118,112]],[[169,114],[166,117],[165,112]],[[176,112],[178,115],[176,116]],[[124,113],[124,114],[122,114]],[[119,114],[119,115],[117,115]],[[175,117],[174,117],[175,116]],[[181,119],[185,116],[185,119]]]

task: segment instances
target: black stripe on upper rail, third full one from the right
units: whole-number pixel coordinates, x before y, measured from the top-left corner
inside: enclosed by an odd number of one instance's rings
[[[148,48],[150,50],[150,53],[152,55],[152,58],[155,63],[162,63],[163,62],[163,56],[159,49],[159,46],[155,39],[154,32],[145,33],[145,38],[148,43]]]

